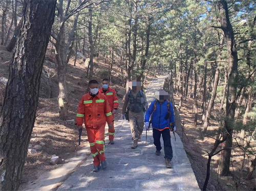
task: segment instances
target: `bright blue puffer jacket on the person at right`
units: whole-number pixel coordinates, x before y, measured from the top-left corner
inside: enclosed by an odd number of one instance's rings
[[[156,110],[154,111],[155,102],[157,102],[157,103],[156,103]],[[171,113],[170,118],[165,120],[165,117],[168,113],[167,100],[161,104],[158,100],[155,100],[150,104],[150,107],[148,107],[148,109],[146,111],[144,122],[150,121],[150,116],[151,116],[152,112],[154,111],[152,118],[151,118],[151,125],[155,129],[164,129],[165,127],[169,127],[170,123],[175,123],[173,104],[170,102],[169,102],[169,104],[170,104],[169,111]]]

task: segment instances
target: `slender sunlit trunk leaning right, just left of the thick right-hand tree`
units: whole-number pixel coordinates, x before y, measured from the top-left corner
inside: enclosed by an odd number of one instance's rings
[[[210,114],[211,114],[211,109],[214,106],[214,100],[216,98],[217,87],[218,87],[218,82],[219,82],[219,74],[220,74],[220,70],[219,70],[219,68],[216,68],[216,73],[215,73],[215,78],[214,78],[214,87],[213,87],[213,90],[211,92],[211,97],[210,97],[210,101],[209,101],[209,104],[208,104],[208,109],[207,109],[207,113],[206,113],[205,121],[204,121],[204,125],[203,125],[204,134],[207,131],[207,127],[208,127],[208,123],[209,123],[209,117],[210,117]]]

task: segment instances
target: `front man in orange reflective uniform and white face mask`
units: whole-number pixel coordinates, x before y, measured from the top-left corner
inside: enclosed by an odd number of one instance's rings
[[[89,82],[90,91],[84,94],[79,102],[76,114],[76,122],[78,129],[86,126],[88,141],[90,144],[91,153],[93,155],[93,172],[98,172],[101,163],[101,168],[106,168],[106,157],[104,155],[104,134],[105,124],[109,124],[109,129],[113,128],[113,115],[106,97],[99,93],[99,84],[96,80]]]

